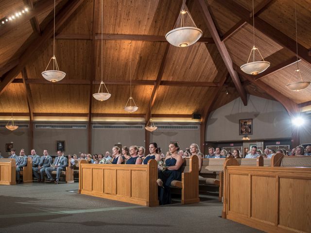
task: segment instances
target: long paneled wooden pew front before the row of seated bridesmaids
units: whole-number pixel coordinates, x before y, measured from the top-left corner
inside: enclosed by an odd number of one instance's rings
[[[157,162],[147,165],[79,164],[81,194],[157,206]]]

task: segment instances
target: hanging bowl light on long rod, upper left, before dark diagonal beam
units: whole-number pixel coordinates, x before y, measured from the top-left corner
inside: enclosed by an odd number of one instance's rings
[[[54,34],[53,34],[53,56],[49,61],[48,66],[46,67],[45,71],[43,71],[41,74],[43,76],[43,78],[45,78],[46,80],[55,83],[58,81],[61,81],[63,78],[65,78],[66,73],[63,71],[59,70],[58,64],[57,64],[57,60],[55,57],[55,5],[56,2],[54,0]],[[53,69],[52,70],[47,70],[50,63],[53,63]]]

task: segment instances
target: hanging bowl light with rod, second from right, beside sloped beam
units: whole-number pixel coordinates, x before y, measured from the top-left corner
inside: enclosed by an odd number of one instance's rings
[[[268,67],[270,67],[270,62],[267,62],[263,59],[261,56],[261,53],[259,52],[259,49],[255,46],[255,17],[254,17],[254,0],[253,0],[253,40],[254,40],[254,46],[249,54],[247,63],[242,65],[240,68],[241,70],[246,73],[246,74],[252,74],[252,75],[257,75],[263,71],[265,71]],[[256,50],[258,51],[261,60],[260,61],[255,61],[255,52]],[[253,61],[249,62],[250,57],[253,54]]]

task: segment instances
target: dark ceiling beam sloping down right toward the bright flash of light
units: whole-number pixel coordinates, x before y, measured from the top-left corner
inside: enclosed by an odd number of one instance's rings
[[[239,66],[236,64],[233,64],[236,71],[244,77],[246,80],[248,80],[250,83],[258,86],[261,90],[265,91],[269,96],[274,98],[275,100],[279,101],[284,108],[287,110],[290,116],[294,116],[296,113],[298,113],[298,104],[296,104],[293,100],[289,99],[282,93],[276,91],[274,88],[269,86],[268,84],[264,83],[261,80],[255,80],[254,77],[251,77],[250,75],[245,74]]]

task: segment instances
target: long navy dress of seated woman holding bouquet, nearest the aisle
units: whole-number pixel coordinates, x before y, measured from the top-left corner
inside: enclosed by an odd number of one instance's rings
[[[165,160],[166,166],[174,166],[176,164],[175,158]],[[163,181],[163,187],[159,187],[159,202],[160,205],[171,204],[171,183],[172,181],[181,181],[181,167],[178,170],[157,170],[158,178]]]

